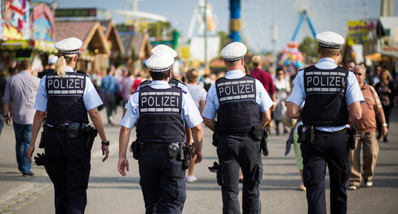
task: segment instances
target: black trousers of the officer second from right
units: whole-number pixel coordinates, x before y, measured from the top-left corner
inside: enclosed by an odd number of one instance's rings
[[[217,145],[221,170],[217,182],[223,194],[223,213],[241,213],[239,168],[243,173],[243,213],[261,213],[260,183],[263,177],[260,141],[248,136],[220,136]]]

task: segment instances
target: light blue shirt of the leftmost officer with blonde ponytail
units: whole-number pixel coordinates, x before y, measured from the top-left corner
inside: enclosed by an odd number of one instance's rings
[[[67,72],[74,72],[73,69],[67,66]],[[86,75],[86,86],[85,92],[83,93],[83,102],[85,103],[85,107],[87,111],[94,109],[103,104],[101,98],[98,96],[96,89],[94,88],[94,84]],[[47,91],[46,91],[46,76],[40,80],[39,91],[37,91],[37,96],[35,100],[34,108],[39,110],[40,112],[47,111]]]

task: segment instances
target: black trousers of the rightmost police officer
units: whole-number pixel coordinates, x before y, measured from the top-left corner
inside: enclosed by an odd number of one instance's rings
[[[347,213],[349,147],[347,134],[315,134],[315,142],[300,145],[308,213],[327,213],[326,166],[329,168],[331,213]]]

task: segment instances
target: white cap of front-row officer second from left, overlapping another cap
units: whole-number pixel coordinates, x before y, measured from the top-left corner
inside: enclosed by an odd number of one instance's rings
[[[174,57],[168,53],[155,53],[146,60],[146,66],[149,71],[163,72],[171,69],[171,65],[174,63]]]

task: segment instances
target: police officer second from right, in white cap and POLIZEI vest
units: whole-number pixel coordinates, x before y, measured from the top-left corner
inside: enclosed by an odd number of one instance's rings
[[[239,208],[239,168],[243,172],[243,213],[260,213],[260,182],[263,175],[260,141],[252,129],[261,130],[270,121],[273,102],[263,84],[243,73],[247,51],[241,42],[223,48],[227,74],[211,85],[202,116],[205,125],[220,134],[217,181],[223,195],[223,213],[241,213]],[[217,114],[217,121],[214,118]]]

